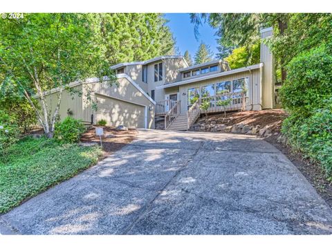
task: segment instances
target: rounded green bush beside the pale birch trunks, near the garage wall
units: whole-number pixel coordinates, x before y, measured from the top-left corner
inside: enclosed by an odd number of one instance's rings
[[[67,117],[62,122],[55,124],[54,138],[59,143],[73,143],[78,142],[85,127],[81,120]]]

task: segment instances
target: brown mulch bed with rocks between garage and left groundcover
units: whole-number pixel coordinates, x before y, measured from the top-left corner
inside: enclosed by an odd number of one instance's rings
[[[138,134],[136,129],[129,129],[128,131],[120,131],[115,127],[103,127],[104,137],[102,137],[102,150],[104,156],[108,156],[114,151],[117,151],[134,140]],[[81,142],[98,142],[100,144],[99,136],[95,136],[95,127],[91,127],[83,134]]]

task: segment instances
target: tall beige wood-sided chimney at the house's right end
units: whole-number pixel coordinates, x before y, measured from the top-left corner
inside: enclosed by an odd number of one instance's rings
[[[261,30],[261,39],[273,36],[273,28]],[[273,55],[265,44],[261,43],[261,62],[264,64],[261,72],[261,106],[262,109],[275,107],[275,64]]]

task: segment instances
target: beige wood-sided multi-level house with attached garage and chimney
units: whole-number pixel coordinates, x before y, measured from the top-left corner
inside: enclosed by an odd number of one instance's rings
[[[262,38],[271,35],[272,28],[261,30]],[[59,116],[65,118],[70,110],[74,118],[86,122],[104,119],[112,126],[148,129],[155,127],[155,120],[162,120],[165,129],[186,130],[204,112],[272,109],[273,55],[264,44],[260,52],[259,64],[234,70],[219,59],[188,66],[181,55],[116,64],[111,68],[116,71],[118,86],[98,79],[69,84],[82,95],[72,96],[64,91]],[[55,108],[53,96],[57,91],[53,89],[46,97],[50,107]],[[84,94],[87,92],[97,110]]]

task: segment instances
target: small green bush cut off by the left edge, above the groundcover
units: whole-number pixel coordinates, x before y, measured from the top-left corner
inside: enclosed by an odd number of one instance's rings
[[[0,154],[19,139],[19,127],[15,118],[0,111]]]

